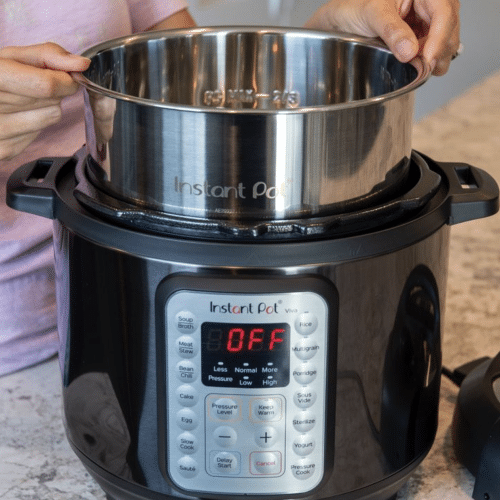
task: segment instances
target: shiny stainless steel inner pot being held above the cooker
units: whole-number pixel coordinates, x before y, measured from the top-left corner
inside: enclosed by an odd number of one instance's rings
[[[278,28],[152,32],[87,50],[92,181],[195,218],[291,219],[392,196],[429,76],[381,43]]]

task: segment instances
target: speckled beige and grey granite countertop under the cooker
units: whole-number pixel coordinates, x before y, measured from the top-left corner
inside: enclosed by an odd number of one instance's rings
[[[466,162],[500,182],[500,73],[415,126],[414,148]],[[455,368],[500,351],[500,215],[454,226],[443,362]],[[0,378],[0,500],[104,500],[65,439],[56,359]],[[453,454],[458,389],[443,378],[435,444],[401,490],[406,500],[470,499],[473,477]]]

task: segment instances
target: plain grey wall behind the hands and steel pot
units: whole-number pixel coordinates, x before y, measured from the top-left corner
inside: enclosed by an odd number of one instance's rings
[[[302,26],[326,0],[188,0],[200,26]],[[463,54],[444,77],[432,77],[417,91],[418,120],[500,69],[499,0],[462,0]],[[500,89],[499,89],[500,92]]]

